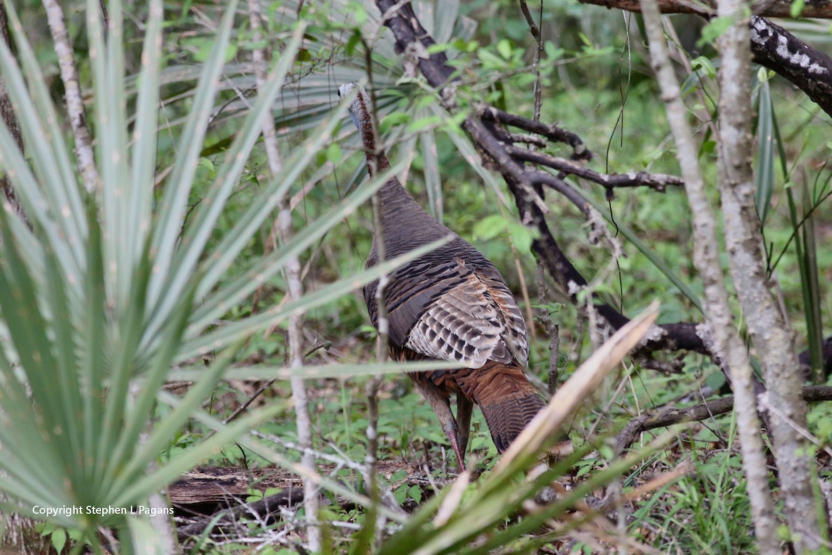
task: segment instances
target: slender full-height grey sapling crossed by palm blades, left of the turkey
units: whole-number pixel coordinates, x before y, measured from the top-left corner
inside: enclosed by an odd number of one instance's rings
[[[251,24],[252,39],[255,44],[262,40],[260,32],[260,0],[248,0],[249,20]],[[265,52],[260,48],[254,48],[251,52],[252,61],[255,67],[257,89],[264,87],[266,82],[267,61]],[[280,150],[277,146],[275,132],[275,121],[271,116],[263,120],[263,141],[265,143],[266,156],[269,160],[269,170],[272,176],[280,175],[283,169],[280,160]],[[292,237],[292,212],[285,200],[278,205],[278,226],[280,229],[280,240],[286,244]],[[297,255],[290,256],[285,267],[286,282],[288,285],[288,297],[290,300],[298,300],[303,296],[303,284],[300,281],[300,260]],[[291,368],[300,368],[304,364],[303,351],[303,330],[301,326],[303,318],[300,314],[293,314],[289,318],[289,359]],[[309,401],[306,393],[306,384],[300,376],[292,376],[290,379],[292,388],[292,399],[295,402],[295,417],[297,420],[298,441],[304,448],[312,447],[312,421],[310,419]],[[304,453],[300,463],[315,470],[314,455]],[[304,479],[304,506],[307,523],[307,542],[311,552],[319,552],[321,549],[321,530],[318,522],[319,508],[318,488],[309,480]]]

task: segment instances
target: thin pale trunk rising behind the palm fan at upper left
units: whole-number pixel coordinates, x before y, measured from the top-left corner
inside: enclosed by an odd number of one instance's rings
[[[101,178],[98,176],[95,155],[92,151],[90,131],[84,116],[84,103],[81,86],[78,80],[78,70],[75,67],[75,52],[69,42],[67,24],[64,22],[63,8],[57,0],[43,0],[43,7],[47,11],[49,31],[52,32],[52,42],[55,43],[58,66],[61,68],[61,80],[64,88],[64,98],[67,101],[67,113],[72,126],[72,136],[75,138],[75,154],[78,167],[81,169],[84,187],[88,193],[98,191]],[[115,40],[121,40],[116,37]],[[100,56],[104,53],[100,52]]]

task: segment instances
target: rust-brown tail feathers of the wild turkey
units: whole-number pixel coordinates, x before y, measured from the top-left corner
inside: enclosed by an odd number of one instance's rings
[[[503,453],[546,406],[517,364],[488,361],[457,376],[463,394],[479,405],[497,450]]]

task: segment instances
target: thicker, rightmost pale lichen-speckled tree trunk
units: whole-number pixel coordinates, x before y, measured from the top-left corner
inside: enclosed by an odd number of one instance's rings
[[[795,429],[805,428],[794,334],[786,325],[766,279],[760,246],[760,219],[755,208],[751,167],[750,14],[744,0],[721,0],[720,17],[731,25],[717,39],[721,52],[719,184],[731,276],[763,366],[768,387],[770,434],[780,470],[780,491],[798,553],[820,548],[815,499],[811,488],[808,441]],[[745,17],[741,14],[745,12]]]

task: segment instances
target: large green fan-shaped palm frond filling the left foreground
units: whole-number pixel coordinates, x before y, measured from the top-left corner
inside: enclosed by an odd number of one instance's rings
[[[360,187],[332,211],[310,222],[295,239],[227,278],[250,237],[280,199],[301,181],[314,154],[329,140],[344,109],[321,119],[285,163],[285,172],[255,193],[251,208],[218,245],[208,237],[225,201],[240,181],[245,161],[270,114],[298,52],[304,25],[298,24],[280,59],[236,131],[235,141],[209,188],[209,198],[187,217],[186,202],[196,184],[196,162],[205,144],[206,121],[214,106],[230,41],[232,1],[201,70],[191,112],[176,145],[176,161],[154,199],[161,86],[161,0],[152,0],[136,79],[132,133],[126,99],[121,2],[109,3],[106,38],[98,2],[87,2],[92,67],[91,121],[100,187],[88,195],[79,183],[77,162],[60,131],[60,110],[52,104],[32,47],[10,4],[7,10],[17,58],[0,41],[0,71],[17,107],[27,157],[0,123],[0,164],[22,201],[31,229],[4,206],[0,216],[0,489],[4,508],[77,528],[97,543],[99,526],[122,533],[148,529],[130,514],[97,514],[91,508],[146,504],[187,468],[221,444],[284,409],[280,404],[252,412],[239,422],[218,424],[217,434],[186,453],[156,464],[188,419],[215,389],[241,339],[289,311],[240,320],[217,329],[213,320],[250,295],[298,254],[366,201],[390,172]],[[400,171],[401,166],[391,168]],[[417,253],[418,255],[418,253]],[[328,290],[295,300],[305,311],[389,271],[341,280]],[[254,276],[254,279],[252,279]],[[169,372],[184,359],[210,350],[219,354],[201,370],[181,399],[160,394]],[[173,409],[151,425],[156,403]],[[36,508],[37,507],[37,508]],[[46,508],[80,507],[80,513]],[[126,548],[131,543],[123,543]]]

